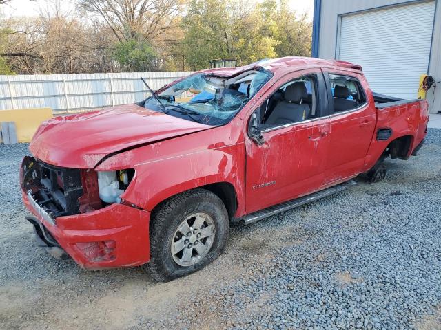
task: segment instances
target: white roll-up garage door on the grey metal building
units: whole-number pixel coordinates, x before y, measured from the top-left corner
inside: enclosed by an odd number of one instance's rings
[[[416,98],[427,73],[435,1],[342,16],[337,57],[362,65],[371,89]]]

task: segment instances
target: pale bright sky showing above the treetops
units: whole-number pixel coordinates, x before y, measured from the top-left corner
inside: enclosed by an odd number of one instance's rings
[[[299,14],[308,12],[309,20],[312,21],[314,11],[314,0],[288,0],[291,8],[296,10]],[[63,6],[66,9],[73,8],[72,1],[64,0]],[[40,9],[46,8],[45,0],[12,0],[6,5],[1,6],[3,14],[6,16],[37,16]]]

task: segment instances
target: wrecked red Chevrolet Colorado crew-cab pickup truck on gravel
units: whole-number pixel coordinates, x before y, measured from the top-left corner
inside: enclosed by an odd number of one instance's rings
[[[185,97],[185,98],[184,98]],[[185,102],[184,102],[185,101]],[[52,254],[158,281],[219,256],[252,223],[385,175],[424,142],[425,100],[373,94],[359,65],[279,58],[209,69],[137,104],[43,123],[23,201]]]

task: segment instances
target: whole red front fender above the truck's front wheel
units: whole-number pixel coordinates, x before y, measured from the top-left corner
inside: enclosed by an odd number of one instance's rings
[[[96,170],[134,168],[134,178],[121,198],[144,210],[153,210],[158,203],[180,192],[227,182],[236,190],[236,215],[242,215],[245,144],[240,127],[238,122],[233,129],[223,126],[135,148],[106,159]]]

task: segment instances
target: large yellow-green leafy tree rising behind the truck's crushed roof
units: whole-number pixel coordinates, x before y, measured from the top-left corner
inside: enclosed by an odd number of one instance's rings
[[[276,56],[278,41],[262,34],[264,17],[256,8],[242,0],[189,1],[181,25],[189,68],[206,68],[214,58],[238,57],[249,63]]]

